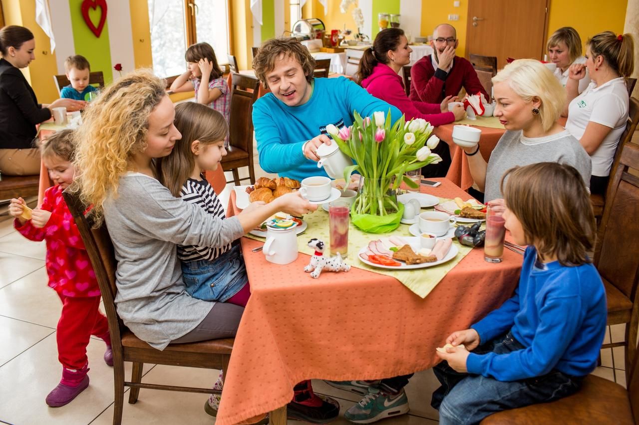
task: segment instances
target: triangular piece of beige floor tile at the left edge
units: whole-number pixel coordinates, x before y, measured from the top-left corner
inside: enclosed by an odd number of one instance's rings
[[[49,327],[0,316],[0,366],[52,332]]]

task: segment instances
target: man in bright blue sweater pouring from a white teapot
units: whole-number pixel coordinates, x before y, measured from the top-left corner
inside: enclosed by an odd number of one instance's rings
[[[347,78],[313,78],[315,61],[295,38],[266,41],[253,61],[255,74],[271,93],[253,105],[259,165],[281,177],[302,180],[327,175],[318,169],[318,147],[330,145],[326,126],[353,124],[362,117],[390,109],[392,121],[401,112],[368,94]]]

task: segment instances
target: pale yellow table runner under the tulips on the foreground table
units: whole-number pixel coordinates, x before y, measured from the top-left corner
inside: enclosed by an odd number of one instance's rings
[[[440,198],[440,203],[447,200],[449,199]],[[308,228],[303,234],[298,235],[297,237],[298,251],[312,255],[314,250],[309,248],[307,245],[309,240],[316,237],[317,239],[324,241],[327,246],[330,243],[328,213],[319,207],[314,213],[304,216],[304,220],[306,221]],[[399,227],[393,232],[385,234],[371,234],[362,232],[355,227],[353,223],[350,223],[350,227],[348,228],[348,257],[346,258],[346,262],[358,269],[392,276],[403,283],[408,289],[412,290],[415,294],[424,298],[433,290],[433,288],[436,287],[443,277],[446,276],[446,273],[450,269],[459,264],[459,262],[468,255],[472,248],[470,246],[461,245],[458,241],[456,241],[456,239],[453,239],[453,243],[456,244],[459,250],[457,256],[444,264],[434,265],[433,267],[426,267],[424,269],[397,271],[378,269],[377,267],[371,267],[370,265],[364,264],[358,259],[357,253],[363,246],[368,245],[370,241],[374,241],[380,237],[390,237],[393,235],[412,237],[413,235],[408,232],[408,227],[410,226],[399,225]],[[264,241],[263,237],[255,237],[253,235],[246,236],[251,239],[256,239],[257,241]],[[327,254],[330,255],[328,250]]]

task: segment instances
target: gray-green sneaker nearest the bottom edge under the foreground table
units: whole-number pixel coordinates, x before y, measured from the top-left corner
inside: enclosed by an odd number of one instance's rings
[[[410,410],[404,389],[396,394],[377,387],[370,387],[368,391],[362,401],[346,410],[346,419],[355,424],[371,424],[387,417],[407,414]]]

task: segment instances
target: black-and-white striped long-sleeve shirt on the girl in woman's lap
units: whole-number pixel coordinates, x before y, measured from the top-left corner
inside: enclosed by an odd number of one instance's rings
[[[206,181],[204,175],[201,175],[201,180],[189,179],[182,186],[180,196],[186,202],[190,204],[199,205],[204,211],[213,216],[219,217],[224,220],[226,213],[222,202],[220,202],[213,187]],[[231,244],[224,246],[223,248],[210,248],[208,246],[196,246],[196,245],[178,245],[178,258],[181,261],[189,262],[196,260],[215,260],[226,251],[231,248]]]

